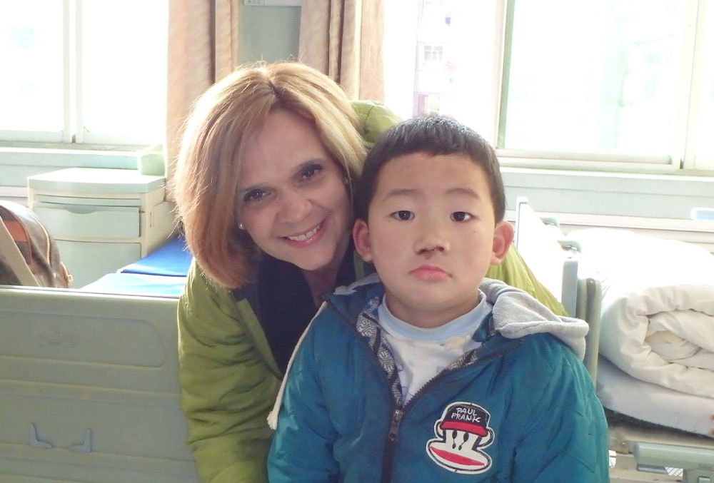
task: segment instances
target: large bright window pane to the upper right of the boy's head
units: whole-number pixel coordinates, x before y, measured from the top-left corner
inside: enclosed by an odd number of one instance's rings
[[[502,147],[673,153],[687,1],[515,5]]]

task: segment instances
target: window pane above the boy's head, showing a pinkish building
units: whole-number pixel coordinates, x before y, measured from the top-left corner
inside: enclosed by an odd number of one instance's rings
[[[495,141],[496,1],[386,0],[385,102],[453,116]]]

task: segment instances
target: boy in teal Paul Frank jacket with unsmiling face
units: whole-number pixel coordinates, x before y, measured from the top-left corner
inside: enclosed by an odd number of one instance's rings
[[[372,148],[355,198],[379,279],[329,296],[298,344],[271,482],[607,482],[587,325],[482,280],[513,239],[491,146],[411,119]]]

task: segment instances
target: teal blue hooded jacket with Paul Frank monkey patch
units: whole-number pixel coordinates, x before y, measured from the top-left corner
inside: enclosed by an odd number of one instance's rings
[[[270,481],[607,482],[603,408],[573,353],[585,322],[489,287],[481,347],[406,405],[376,322],[382,286],[328,298],[288,369]]]

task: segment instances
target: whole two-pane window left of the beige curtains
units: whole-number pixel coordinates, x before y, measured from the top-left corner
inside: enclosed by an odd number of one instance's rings
[[[5,4],[0,140],[162,141],[167,0]]]

